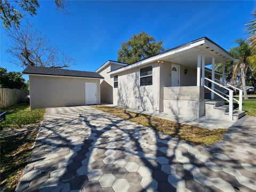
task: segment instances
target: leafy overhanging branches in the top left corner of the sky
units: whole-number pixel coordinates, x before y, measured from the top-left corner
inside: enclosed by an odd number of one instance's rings
[[[66,8],[66,2],[64,0],[54,0],[58,11],[68,13]],[[27,13],[31,16],[37,14],[39,3],[37,0],[20,0],[20,1],[8,1],[1,0],[0,13],[3,21],[3,27],[10,29],[11,27],[19,27],[20,20],[25,17]]]

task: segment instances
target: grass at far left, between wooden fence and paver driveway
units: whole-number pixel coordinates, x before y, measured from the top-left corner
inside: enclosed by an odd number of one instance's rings
[[[2,122],[4,131],[19,130],[20,127],[39,126],[44,118],[45,109],[30,110],[29,105],[19,104],[2,109],[7,111],[6,120]],[[36,139],[37,129],[26,133],[0,139],[1,145],[1,188],[4,191],[14,191],[21,174],[29,161],[31,148]],[[2,189],[1,189],[2,191]]]

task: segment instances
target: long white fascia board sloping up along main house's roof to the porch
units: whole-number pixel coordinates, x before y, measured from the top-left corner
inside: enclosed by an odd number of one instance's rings
[[[145,60],[142,60],[142,61],[138,61],[137,63],[131,64],[129,66],[126,66],[126,67],[123,67],[123,68],[120,68],[120,69],[117,69],[117,70],[110,71],[110,72],[108,72],[108,74],[113,75],[113,74],[117,74],[117,73],[119,73],[121,71],[124,71],[124,70],[132,69],[132,68],[135,68],[135,67],[138,67],[138,66],[141,66],[141,65],[146,65],[147,63],[153,62],[155,60],[159,60],[163,57],[166,57],[166,56],[169,56],[169,55],[181,52],[181,51],[191,49],[195,46],[203,44],[204,42],[205,42],[205,39],[202,39],[201,41],[191,43],[189,45],[184,45],[183,47],[178,47],[175,50],[170,50],[169,52],[166,52],[166,53],[163,53],[163,54],[160,54],[160,55],[156,55],[154,57],[151,57],[151,58],[148,58],[148,59],[145,59]]]

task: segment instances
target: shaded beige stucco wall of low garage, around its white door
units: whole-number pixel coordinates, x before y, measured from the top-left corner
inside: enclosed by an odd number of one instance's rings
[[[100,104],[100,79],[29,75],[30,108],[85,105],[85,83],[97,83]]]

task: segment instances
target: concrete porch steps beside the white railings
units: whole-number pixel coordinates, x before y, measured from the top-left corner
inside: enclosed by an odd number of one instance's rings
[[[205,116],[210,118],[229,119],[229,106],[225,105],[225,101],[207,100],[205,101]],[[233,110],[233,119],[239,119],[243,116],[245,116],[245,111]]]

